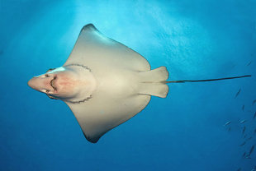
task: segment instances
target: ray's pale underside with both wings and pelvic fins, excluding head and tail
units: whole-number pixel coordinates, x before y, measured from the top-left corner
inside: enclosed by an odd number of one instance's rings
[[[166,96],[168,92],[167,85],[149,85],[144,79],[148,77],[151,82],[158,77],[157,81],[165,81],[168,78],[165,67],[156,69],[152,72],[155,76],[150,77],[150,65],[144,57],[102,35],[92,24],[81,30],[64,66],[69,64],[87,66],[97,80],[97,89],[90,99],[79,104],[65,102],[77,118],[84,136],[93,143],[145,109],[152,95],[148,91],[154,91],[153,94],[159,97]],[[164,74],[160,80],[159,73]],[[140,80],[144,82],[139,84]]]

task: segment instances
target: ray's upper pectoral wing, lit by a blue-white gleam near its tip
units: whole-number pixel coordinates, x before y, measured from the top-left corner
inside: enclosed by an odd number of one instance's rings
[[[92,24],[83,26],[65,65],[79,63],[94,72],[122,67],[139,72],[150,70],[149,62],[139,53],[102,35]]]

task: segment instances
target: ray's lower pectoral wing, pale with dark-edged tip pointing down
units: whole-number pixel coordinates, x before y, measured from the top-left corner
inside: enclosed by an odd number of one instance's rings
[[[96,93],[86,103],[69,105],[77,118],[83,135],[92,143],[112,128],[126,122],[140,113],[149,104],[150,95],[133,95],[126,99],[108,99],[102,93]]]

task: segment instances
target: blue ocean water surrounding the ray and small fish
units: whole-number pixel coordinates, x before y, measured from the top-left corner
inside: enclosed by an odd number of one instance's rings
[[[255,9],[254,0],[1,0],[0,170],[253,169],[256,152],[243,154],[256,144]],[[92,144],[66,104],[26,84],[63,65],[88,23],[166,66],[169,80],[253,76],[170,84],[166,99],[152,97]]]

